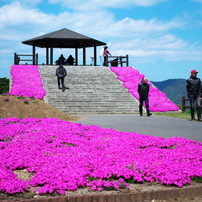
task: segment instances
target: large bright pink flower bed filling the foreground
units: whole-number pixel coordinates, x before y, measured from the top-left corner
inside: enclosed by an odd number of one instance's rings
[[[0,191],[65,194],[88,187],[102,191],[135,182],[182,187],[202,177],[202,144],[118,132],[55,118],[0,120]],[[20,180],[13,172],[33,173]]]

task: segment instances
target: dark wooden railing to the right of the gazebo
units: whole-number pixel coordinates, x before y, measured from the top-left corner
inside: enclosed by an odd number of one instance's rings
[[[111,64],[111,65],[109,65]],[[128,63],[128,55],[126,56],[106,56],[106,66],[112,66],[117,67],[118,65],[121,65],[123,67],[123,64],[126,64],[126,67],[129,66]]]

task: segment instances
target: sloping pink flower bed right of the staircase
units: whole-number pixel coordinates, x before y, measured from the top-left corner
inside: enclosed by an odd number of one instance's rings
[[[111,67],[112,72],[118,75],[118,79],[123,82],[123,86],[128,89],[133,97],[139,100],[139,94],[137,92],[138,84],[141,83],[141,79],[144,77],[138,70],[132,67]],[[179,107],[170,101],[166,94],[159,89],[152,86],[152,83],[148,81],[150,85],[149,92],[149,107],[152,112],[167,112],[178,111]]]

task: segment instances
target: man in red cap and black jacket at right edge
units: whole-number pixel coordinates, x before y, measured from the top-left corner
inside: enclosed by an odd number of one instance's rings
[[[201,107],[200,107],[200,94],[201,94],[201,80],[197,78],[197,71],[192,70],[191,76],[187,79],[186,89],[187,95],[190,100],[190,113],[191,121],[196,121],[194,116],[194,104],[196,103],[198,121],[201,121]]]

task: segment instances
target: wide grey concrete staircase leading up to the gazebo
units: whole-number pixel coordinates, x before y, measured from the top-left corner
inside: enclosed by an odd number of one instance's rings
[[[46,90],[45,102],[69,114],[137,113],[139,102],[116,79],[108,67],[64,66],[64,92],[58,89],[58,66],[39,66]]]

